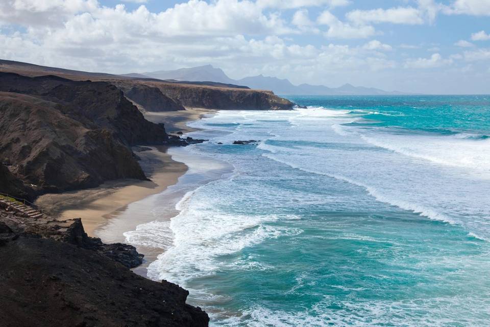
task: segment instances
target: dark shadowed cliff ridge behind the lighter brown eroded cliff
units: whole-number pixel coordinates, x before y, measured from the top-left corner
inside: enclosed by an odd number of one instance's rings
[[[161,126],[146,121],[123,92],[108,82],[0,73],[0,91],[57,103],[63,114],[91,128],[107,129],[128,145],[162,143],[168,139]]]

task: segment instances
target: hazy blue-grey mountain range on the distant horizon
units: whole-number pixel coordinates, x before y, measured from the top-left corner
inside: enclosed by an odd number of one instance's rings
[[[192,68],[180,68],[174,71],[146,72],[142,74],[126,74],[136,78],[155,78],[160,80],[177,80],[192,82],[216,82],[234,85],[244,85],[254,89],[274,91],[282,95],[402,95],[400,91],[384,91],[372,87],[353,86],[345,84],[340,87],[324,85],[301,84],[294,85],[287,79],[267,77],[263,75],[234,80],[228,77],[220,68],[204,65]]]

